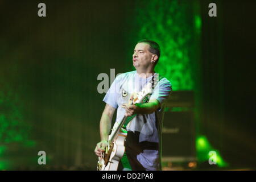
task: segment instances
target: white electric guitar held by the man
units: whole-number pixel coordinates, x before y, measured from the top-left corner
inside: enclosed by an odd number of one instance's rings
[[[144,86],[144,88],[141,90],[141,92],[133,93],[131,95],[129,104],[142,103],[144,98],[148,94],[152,93],[151,88],[152,83],[148,82],[146,86]],[[117,171],[119,161],[125,153],[125,139],[127,136],[127,131],[123,129],[122,126],[126,122],[126,119],[129,118],[124,116],[121,121],[115,122],[112,132],[108,136],[108,146],[103,153],[103,157],[98,158],[98,171]]]

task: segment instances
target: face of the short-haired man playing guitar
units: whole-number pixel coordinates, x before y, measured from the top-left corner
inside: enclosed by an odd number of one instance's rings
[[[149,51],[150,45],[138,43],[134,48],[133,66],[135,68],[147,68],[151,63],[152,53]]]

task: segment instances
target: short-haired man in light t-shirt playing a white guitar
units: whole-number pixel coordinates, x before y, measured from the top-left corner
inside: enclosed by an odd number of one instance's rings
[[[117,76],[104,97],[105,109],[100,120],[101,141],[94,150],[96,155],[104,158],[108,146],[108,135],[112,118],[117,109],[117,120],[133,117],[125,126],[125,155],[118,169],[123,170],[160,170],[161,169],[161,135],[163,118],[163,101],[170,96],[171,82],[158,76],[154,68],[160,57],[160,47],[152,40],[141,40],[133,53],[133,65],[136,71]],[[134,92],[140,92],[152,78],[159,78],[146,102],[128,104]]]

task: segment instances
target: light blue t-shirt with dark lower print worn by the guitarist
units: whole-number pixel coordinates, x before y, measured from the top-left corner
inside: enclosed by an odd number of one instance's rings
[[[158,73],[155,73],[155,76]],[[160,77],[160,76],[159,76]],[[117,76],[104,97],[104,102],[117,108],[117,119],[125,115],[122,104],[127,104],[133,92],[140,92],[151,77],[139,77],[137,71]],[[151,114],[137,114],[127,125],[126,152],[134,156],[147,170],[160,169],[160,142],[162,133],[163,103],[172,91],[171,82],[161,78],[155,86],[149,100],[156,99],[161,107]],[[129,150],[129,151],[127,151]]]

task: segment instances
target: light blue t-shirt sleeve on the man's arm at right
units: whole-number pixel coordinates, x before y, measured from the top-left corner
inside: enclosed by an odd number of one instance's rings
[[[160,104],[162,104],[163,101],[170,96],[171,92],[172,92],[171,82],[168,81],[166,78],[163,78],[156,85],[153,93],[151,94],[150,99],[155,98],[160,102]]]

